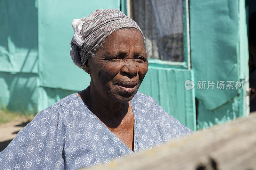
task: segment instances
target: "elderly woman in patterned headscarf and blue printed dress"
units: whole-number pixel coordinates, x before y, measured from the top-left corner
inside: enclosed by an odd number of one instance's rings
[[[77,169],[191,133],[138,92],[148,70],[140,27],[116,9],[72,22],[70,55],[90,86],[39,112],[0,153],[0,169]]]

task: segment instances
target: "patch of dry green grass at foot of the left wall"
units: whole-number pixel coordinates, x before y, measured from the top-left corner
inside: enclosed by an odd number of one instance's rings
[[[11,121],[30,122],[33,118],[34,115],[24,115],[21,112],[0,110],[0,125]]]

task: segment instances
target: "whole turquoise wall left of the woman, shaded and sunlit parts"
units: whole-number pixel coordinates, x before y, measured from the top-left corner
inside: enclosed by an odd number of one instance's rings
[[[36,114],[87,87],[89,75],[69,55],[72,20],[99,8],[120,9],[120,3],[1,0],[0,107]]]

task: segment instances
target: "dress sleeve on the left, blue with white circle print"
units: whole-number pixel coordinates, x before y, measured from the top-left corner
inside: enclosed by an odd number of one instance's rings
[[[63,117],[46,108],[0,152],[0,169],[64,169],[65,140]]]

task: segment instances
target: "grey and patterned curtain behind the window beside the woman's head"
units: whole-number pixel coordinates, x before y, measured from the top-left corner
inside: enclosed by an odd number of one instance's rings
[[[182,0],[133,0],[132,12],[149,58],[183,62]]]

